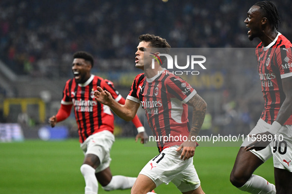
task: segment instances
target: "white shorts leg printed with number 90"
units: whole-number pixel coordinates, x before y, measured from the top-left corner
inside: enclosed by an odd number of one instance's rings
[[[284,125],[273,140],[274,167],[292,172],[292,125]]]

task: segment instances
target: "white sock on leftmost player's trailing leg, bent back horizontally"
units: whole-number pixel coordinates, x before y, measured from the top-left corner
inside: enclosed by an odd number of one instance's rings
[[[121,190],[130,189],[133,187],[136,179],[137,179],[136,177],[116,175],[116,176],[113,176],[111,182],[107,186],[102,187],[102,188],[105,191],[112,191],[116,189],[121,189]]]

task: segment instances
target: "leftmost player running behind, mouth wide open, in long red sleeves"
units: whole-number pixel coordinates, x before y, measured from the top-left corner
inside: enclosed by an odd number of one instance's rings
[[[108,91],[117,103],[124,104],[125,98],[119,95],[112,82],[90,73],[93,62],[89,53],[80,51],[74,54],[74,78],[66,82],[58,113],[49,118],[51,127],[54,127],[57,122],[69,117],[74,105],[79,141],[85,155],[80,168],[85,179],[85,194],[97,194],[97,181],[104,190],[111,191],[129,189],[136,180],[134,177],[112,176],[109,166],[110,150],[115,141],[114,115],[108,106],[94,100],[94,90],[97,86],[101,87]],[[136,115],[133,116],[132,122],[138,130],[136,141],[141,138],[141,143],[144,143],[144,127]]]

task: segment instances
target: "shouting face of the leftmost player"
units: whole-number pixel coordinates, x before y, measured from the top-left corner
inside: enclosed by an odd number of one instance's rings
[[[84,59],[76,58],[72,63],[72,71],[77,83],[84,83],[90,77],[91,64]]]

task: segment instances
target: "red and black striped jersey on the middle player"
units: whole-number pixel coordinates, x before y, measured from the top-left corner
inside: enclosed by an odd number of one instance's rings
[[[185,103],[196,93],[185,80],[164,69],[151,79],[137,75],[127,99],[142,105],[161,152],[186,141],[190,129]]]

